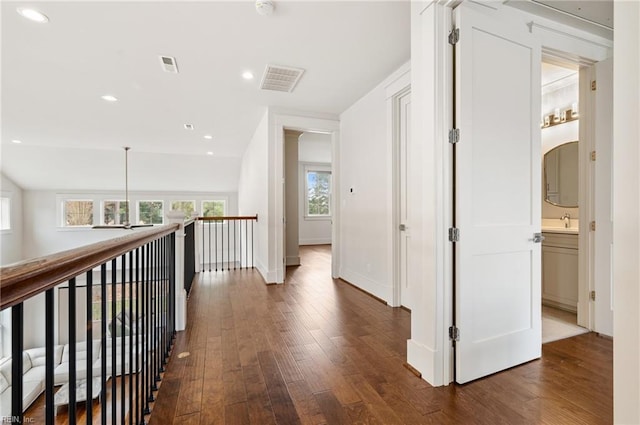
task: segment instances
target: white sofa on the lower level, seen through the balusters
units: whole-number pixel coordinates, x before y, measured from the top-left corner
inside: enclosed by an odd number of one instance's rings
[[[122,368],[122,349],[125,350],[125,364],[124,373],[131,373],[131,366],[136,363],[136,356],[138,359],[138,369],[141,366],[142,356],[142,344],[135,346],[133,353],[134,364],[129,364],[129,337],[125,336],[124,344],[121,337],[116,337],[116,373],[112,373],[112,340],[111,337],[107,337],[106,347],[106,359],[107,359],[107,378],[110,376],[120,376],[123,373]],[[134,336],[135,338],[135,336]],[[69,382],[69,344],[56,345],[53,348],[53,381],[54,385],[62,385]],[[92,376],[99,377],[102,368],[102,356],[101,356],[101,341],[92,341]],[[23,397],[22,408],[23,411],[42,394],[45,390],[45,368],[46,368],[46,349],[44,347],[30,348],[22,352],[22,385],[23,385]],[[11,358],[4,359],[0,362],[0,418],[11,415]],[[85,379],[87,377],[87,344],[84,341],[76,343],[76,379]]]

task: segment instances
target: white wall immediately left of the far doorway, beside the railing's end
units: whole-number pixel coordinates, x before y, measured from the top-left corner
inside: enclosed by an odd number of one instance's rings
[[[269,268],[269,187],[269,111],[265,111],[242,157],[238,214],[258,214],[254,263],[267,283],[275,282]]]

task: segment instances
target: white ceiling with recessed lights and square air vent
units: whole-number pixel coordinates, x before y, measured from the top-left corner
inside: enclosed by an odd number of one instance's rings
[[[197,168],[233,164],[237,180],[267,106],[339,114],[410,58],[407,1],[276,1],[271,16],[253,1],[28,3],[46,24],[18,15],[24,5],[2,3],[1,135],[2,172],[26,189],[119,189],[131,146],[140,190],[176,176],[183,190],[221,190]],[[293,93],[263,91],[267,64],[306,72]]]

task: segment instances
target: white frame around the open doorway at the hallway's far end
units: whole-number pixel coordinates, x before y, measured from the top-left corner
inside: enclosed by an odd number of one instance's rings
[[[270,111],[271,112],[271,111]],[[269,136],[274,140],[274,182],[275,193],[273,198],[274,217],[271,222],[274,225],[274,242],[276,258],[276,283],[284,282],[285,268],[284,256],[286,247],[284,244],[284,130],[315,131],[331,134],[331,192],[332,192],[332,225],[331,225],[331,276],[337,278],[340,270],[340,197],[338,183],[340,179],[339,167],[339,142],[340,121],[337,117],[312,116],[295,111],[273,110],[270,119]]]

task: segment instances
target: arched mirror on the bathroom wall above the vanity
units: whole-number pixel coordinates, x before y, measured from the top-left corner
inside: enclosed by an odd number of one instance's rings
[[[544,199],[565,208],[578,207],[578,142],[556,146],[544,155]]]

